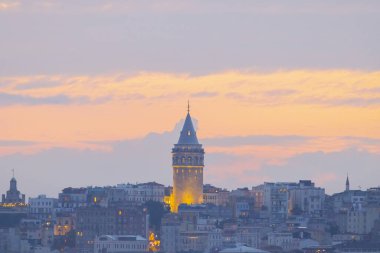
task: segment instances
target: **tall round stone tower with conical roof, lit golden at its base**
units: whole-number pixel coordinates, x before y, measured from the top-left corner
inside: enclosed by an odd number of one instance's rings
[[[190,116],[190,106],[179,140],[172,149],[173,197],[171,211],[177,212],[178,206],[201,204],[203,202],[204,150],[199,144]]]

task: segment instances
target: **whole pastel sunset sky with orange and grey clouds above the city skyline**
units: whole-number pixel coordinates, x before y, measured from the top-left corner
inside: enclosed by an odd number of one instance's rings
[[[205,183],[380,185],[379,1],[0,0],[0,192],[172,184],[187,101]]]

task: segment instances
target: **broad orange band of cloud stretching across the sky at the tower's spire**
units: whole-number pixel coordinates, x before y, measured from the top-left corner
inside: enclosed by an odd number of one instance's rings
[[[138,138],[170,130],[184,117],[187,99],[199,121],[200,138],[237,134],[380,138],[380,72],[228,71],[202,76],[142,72],[11,76],[0,77],[0,82],[0,97],[8,99],[0,101],[3,140],[76,145]],[[340,145],[328,143],[330,150]]]

